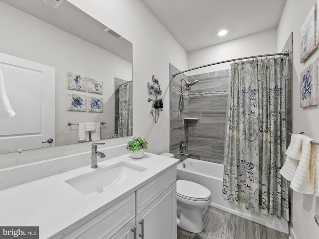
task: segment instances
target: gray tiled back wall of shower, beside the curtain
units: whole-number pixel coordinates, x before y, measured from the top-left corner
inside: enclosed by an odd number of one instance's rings
[[[188,115],[198,121],[188,124],[191,157],[223,163],[230,70],[189,76],[198,80],[188,93]]]

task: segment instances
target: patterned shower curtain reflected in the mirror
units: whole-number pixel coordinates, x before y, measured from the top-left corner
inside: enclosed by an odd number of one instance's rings
[[[119,121],[118,135],[120,137],[131,136],[133,133],[133,82],[119,86]]]

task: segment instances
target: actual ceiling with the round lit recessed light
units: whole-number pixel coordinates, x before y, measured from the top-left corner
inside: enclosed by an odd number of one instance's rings
[[[187,51],[276,28],[286,0],[142,0]],[[229,33],[218,36],[221,28]]]

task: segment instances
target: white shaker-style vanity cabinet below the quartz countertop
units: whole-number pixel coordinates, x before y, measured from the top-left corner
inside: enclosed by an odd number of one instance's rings
[[[176,167],[63,239],[176,239]]]

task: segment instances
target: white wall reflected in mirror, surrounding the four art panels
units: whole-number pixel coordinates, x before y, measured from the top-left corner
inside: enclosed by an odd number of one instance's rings
[[[132,80],[132,63],[0,2],[0,52],[55,67],[55,145],[78,142],[78,126],[67,122],[107,122],[101,137],[114,134],[114,77]],[[67,89],[67,71],[103,80],[103,94]],[[67,110],[67,95],[103,98],[103,113]],[[52,135],[54,138],[54,135]]]

